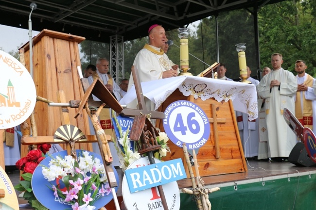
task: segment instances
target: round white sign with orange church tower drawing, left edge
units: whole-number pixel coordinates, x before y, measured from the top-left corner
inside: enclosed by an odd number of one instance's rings
[[[17,59],[0,50],[0,129],[20,125],[36,103],[34,81]]]

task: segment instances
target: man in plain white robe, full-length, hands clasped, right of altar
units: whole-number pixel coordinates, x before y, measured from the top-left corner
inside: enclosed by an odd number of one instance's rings
[[[294,74],[281,68],[282,55],[271,56],[273,71],[257,86],[260,97],[265,98],[264,109],[268,129],[268,157],[287,158],[296,143],[296,136],[283,118],[283,109],[295,114],[294,96],[298,82]],[[280,160],[280,159],[279,159]]]

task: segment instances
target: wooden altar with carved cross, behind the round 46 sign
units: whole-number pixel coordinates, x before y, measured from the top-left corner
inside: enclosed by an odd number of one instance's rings
[[[195,99],[193,95],[183,96],[179,89],[176,89],[160,106],[161,111],[164,112],[169,104],[177,100],[188,100],[197,104],[204,110],[210,121],[211,135],[197,154],[200,176],[246,172],[246,160],[232,101],[218,102],[214,98],[203,101],[200,97]],[[164,131],[162,123],[162,120],[157,120],[156,125]],[[171,153],[167,153],[167,156],[163,158],[164,161],[181,158],[182,162],[186,162],[182,148],[171,141],[168,142],[168,146]],[[187,178],[190,178],[188,166],[186,164],[184,166]],[[194,167],[193,171],[195,171]]]

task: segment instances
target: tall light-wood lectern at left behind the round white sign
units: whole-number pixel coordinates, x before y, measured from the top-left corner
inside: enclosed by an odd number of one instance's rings
[[[33,80],[37,96],[53,102],[67,103],[70,100],[81,100],[84,96],[77,66],[81,66],[78,44],[84,37],[44,29],[33,38]],[[30,69],[29,43],[21,48],[25,51],[25,65]],[[58,101],[57,92],[63,91],[69,101]],[[35,122],[38,136],[53,136],[63,125],[60,107],[49,107],[48,104],[37,102],[35,105]],[[78,127],[86,135],[90,134],[88,115],[82,112],[74,118],[77,109],[69,111],[70,124]],[[76,149],[92,151],[89,143],[76,144]]]

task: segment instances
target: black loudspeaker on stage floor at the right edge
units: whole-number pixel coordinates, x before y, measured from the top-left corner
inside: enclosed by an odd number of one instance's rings
[[[316,162],[308,156],[305,145],[301,142],[293,147],[287,161],[298,166],[316,166]]]

